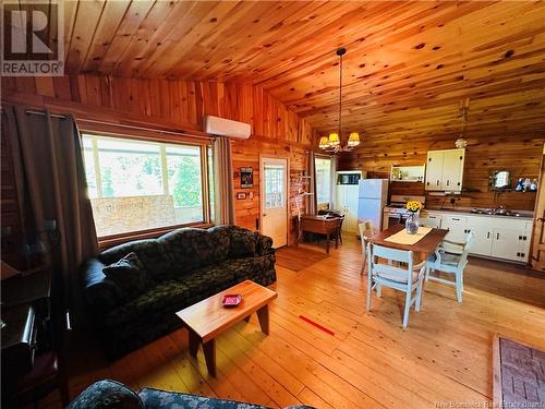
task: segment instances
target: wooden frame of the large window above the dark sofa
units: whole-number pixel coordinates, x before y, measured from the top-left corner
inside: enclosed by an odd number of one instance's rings
[[[144,229],[144,230],[134,230],[134,231],[128,231],[128,232],[121,232],[121,233],[116,233],[116,234],[107,234],[107,236],[99,236],[97,237],[98,240],[98,246],[100,250],[107,249],[112,245],[117,245],[126,241],[131,240],[136,240],[136,239],[147,239],[147,238],[155,238],[159,237],[164,233],[167,233],[169,231],[183,228],[183,227],[210,227],[213,226],[213,220],[211,220],[211,209],[210,209],[210,183],[209,183],[209,163],[208,163],[208,148],[211,147],[213,139],[203,139],[203,137],[195,137],[192,139],[191,136],[185,136],[185,137],[165,137],[161,136],[160,131],[153,131],[153,130],[146,130],[145,132],[140,132],[138,129],[131,129],[131,133],[118,133],[118,132],[111,132],[108,130],[101,131],[97,130],[95,128],[93,129],[85,129],[81,128],[80,129],[80,134],[82,136],[82,154],[84,152],[84,146],[83,146],[83,137],[85,135],[93,136],[93,144],[94,144],[94,149],[93,149],[93,155],[98,155],[98,149],[96,149],[96,143],[98,137],[112,137],[112,139],[118,139],[118,140],[126,140],[126,141],[134,141],[134,142],[141,142],[141,143],[152,143],[152,144],[168,144],[168,145],[182,145],[182,146],[197,146],[199,148],[199,156],[201,156],[201,187],[202,187],[202,200],[203,200],[203,220],[202,221],[192,221],[192,222],[185,222],[185,224],[178,224],[178,225],[170,225],[170,226],[160,226],[157,228],[153,229]],[[162,145],[164,146],[164,145]],[[161,155],[161,175],[162,178],[165,176],[165,171],[168,172],[167,169],[162,169],[164,163],[162,160],[166,159],[162,158],[162,155],[166,154],[166,149],[164,149],[161,146],[160,147],[160,155]],[[211,155],[211,160],[214,161],[214,155]],[[95,175],[99,172],[100,170],[96,169],[96,164],[99,164],[97,158],[94,158],[94,165],[95,165]],[[96,183],[97,183],[97,191],[99,189],[98,183],[100,180],[95,176],[96,178]],[[168,180],[162,179],[162,184],[164,189],[166,183],[168,183]],[[100,187],[101,189],[101,187]],[[90,201],[90,197],[89,197]]]

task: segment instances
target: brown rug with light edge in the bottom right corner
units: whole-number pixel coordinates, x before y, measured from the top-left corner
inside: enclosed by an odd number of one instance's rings
[[[494,338],[495,408],[545,408],[545,352]]]

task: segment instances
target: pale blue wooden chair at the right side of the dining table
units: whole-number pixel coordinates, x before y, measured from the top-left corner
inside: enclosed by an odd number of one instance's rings
[[[463,270],[468,265],[468,255],[470,252],[471,242],[473,241],[473,232],[470,231],[465,237],[464,243],[459,243],[451,240],[443,240],[443,243],[437,248],[435,254],[427,260],[426,263],[426,281],[443,282],[456,287],[456,298],[458,302],[462,302],[463,292]],[[455,280],[448,280],[431,275],[431,272],[439,270],[455,275]]]

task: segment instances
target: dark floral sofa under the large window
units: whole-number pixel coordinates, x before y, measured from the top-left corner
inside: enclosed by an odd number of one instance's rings
[[[104,251],[82,266],[87,311],[117,358],[181,326],[175,312],[238,282],[276,281],[269,237],[237,226],[183,228]]]

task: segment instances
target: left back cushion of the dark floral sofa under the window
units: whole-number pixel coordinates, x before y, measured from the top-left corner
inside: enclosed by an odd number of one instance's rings
[[[116,245],[100,253],[99,260],[105,264],[112,264],[134,252],[146,266],[155,280],[161,281],[172,276],[172,264],[165,248],[155,239],[135,240]]]

